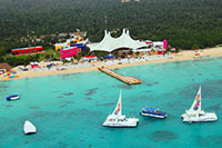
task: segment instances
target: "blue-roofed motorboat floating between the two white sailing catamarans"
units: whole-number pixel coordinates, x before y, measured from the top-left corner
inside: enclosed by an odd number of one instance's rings
[[[167,112],[160,111],[160,109],[158,108],[148,108],[148,107],[144,107],[142,111],[140,112],[140,115],[162,118],[162,119],[168,117]]]

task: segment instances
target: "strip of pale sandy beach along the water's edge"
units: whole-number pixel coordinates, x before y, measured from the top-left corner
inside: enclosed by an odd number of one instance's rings
[[[195,53],[200,53],[200,56],[195,56]],[[208,48],[208,49],[202,49],[202,50],[201,49],[200,50],[185,50],[185,51],[181,51],[179,53],[171,53],[171,55],[173,56],[173,58],[171,58],[171,59],[169,59],[169,58],[168,59],[155,59],[155,60],[151,60],[151,61],[140,61],[140,62],[130,62],[130,63],[111,65],[111,66],[107,66],[104,62],[97,62],[95,66],[92,66],[92,67],[83,67],[83,68],[59,70],[59,71],[57,71],[57,70],[56,71],[41,71],[41,72],[22,71],[22,70],[19,70],[18,67],[16,67],[12,70],[16,70],[18,72],[19,78],[10,79],[10,78],[0,76],[0,81],[22,79],[22,78],[52,76],[52,75],[65,75],[65,73],[79,73],[79,72],[95,71],[95,70],[98,70],[98,67],[101,67],[101,66],[105,66],[108,68],[113,69],[113,68],[122,68],[122,67],[150,65],[150,63],[193,60],[193,59],[200,59],[201,57],[204,58],[206,56],[209,56],[210,58],[220,57],[220,56],[222,56],[222,47]]]

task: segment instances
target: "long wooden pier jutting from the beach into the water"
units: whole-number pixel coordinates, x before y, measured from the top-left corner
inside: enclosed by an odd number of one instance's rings
[[[115,71],[113,71],[113,70],[111,70],[109,68],[105,68],[105,67],[99,67],[98,69],[100,71],[102,71],[102,72],[105,72],[105,73],[108,73],[108,75],[110,75],[110,76],[112,76],[112,77],[114,77],[114,78],[128,83],[128,85],[137,85],[137,83],[141,83],[142,82],[141,80],[135,79],[134,77],[122,76],[122,75],[120,75],[120,73],[118,73],[118,72],[115,72]]]

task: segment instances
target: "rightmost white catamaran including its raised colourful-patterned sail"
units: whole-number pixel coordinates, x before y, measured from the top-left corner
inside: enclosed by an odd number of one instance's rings
[[[199,88],[198,95],[189,110],[181,116],[185,122],[201,122],[201,121],[215,121],[218,117],[215,112],[204,112],[201,110],[201,87]]]

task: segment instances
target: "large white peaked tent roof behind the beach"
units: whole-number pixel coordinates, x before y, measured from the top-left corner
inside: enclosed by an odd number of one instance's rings
[[[119,38],[111,37],[110,32],[104,31],[104,38],[100,43],[91,43],[88,45],[90,51],[108,51],[112,52],[119,48],[129,48],[129,49],[138,49],[142,47],[147,47],[145,42],[141,42],[139,40],[133,40],[130,37],[129,30],[123,29],[122,34]]]

